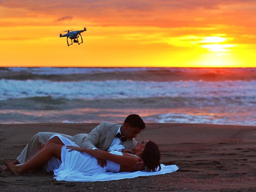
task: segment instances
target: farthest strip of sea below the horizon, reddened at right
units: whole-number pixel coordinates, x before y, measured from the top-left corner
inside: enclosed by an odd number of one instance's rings
[[[12,80],[256,80],[256,68],[0,68]]]

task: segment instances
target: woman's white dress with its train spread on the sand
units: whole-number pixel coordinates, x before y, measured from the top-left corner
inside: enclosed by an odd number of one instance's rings
[[[65,145],[77,146],[74,142],[68,140],[67,138],[60,135],[53,135],[52,137],[54,136],[58,136]],[[53,170],[54,178],[56,180],[80,182],[108,181],[134,178],[138,176],[166,174],[178,170],[176,165],[164,166],[162,164],[162,169],[156,172],[119,172],[119,164],[107,161],[107,166],[102,168],[98,165],[95,157],[78,151],[68,152],[68,150],[70,149],[66,149],[66,147],[63,146],[61,152],[62,161],[53,157],[46,164],[46,170]],[[118,151],[111,151],[111,153],[122,155],[122,153]]]

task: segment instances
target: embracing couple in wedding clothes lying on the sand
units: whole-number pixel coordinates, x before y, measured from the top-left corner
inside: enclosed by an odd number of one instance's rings
[[[89,134],[39,132],[14,162],[6,162],[1,168],[20,175],[45,165],[58,180],[103,172],[160,170],[158,146],[134,139],[144,128],[142,118],[131,114],[123,125],[101,122]]]

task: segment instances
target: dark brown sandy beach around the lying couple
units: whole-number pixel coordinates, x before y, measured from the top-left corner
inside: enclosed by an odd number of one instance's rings
[[[89,133],[98,124],[2,124],[0,164],[14,160],[37,132]],[[15,176],[0,171],[0,191],[256,191],[256,126],[147,124],[137,141],[151,139],[161,163],[177,172],[106,182],[64,182],[52,173]]]

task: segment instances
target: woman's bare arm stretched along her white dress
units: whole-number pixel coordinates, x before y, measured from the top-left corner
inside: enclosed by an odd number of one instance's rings
[[[134,164],[139,162],[138,158],[134,156],[120,156],[120,155],[114,155],[106,151],[102,150],[93,150],[93,149],[85,149],[81,147],[74,147],[74,146],[67,146],[66,148],[70,149],[70,151],[76,150],[80,152],[85,152],[87,154],[90,154],[91,156],[94,156],[96,158],[104,159],[104,160],[109,160],[115,163],[118,163],[123,166],[127,167],[133,167]]]

